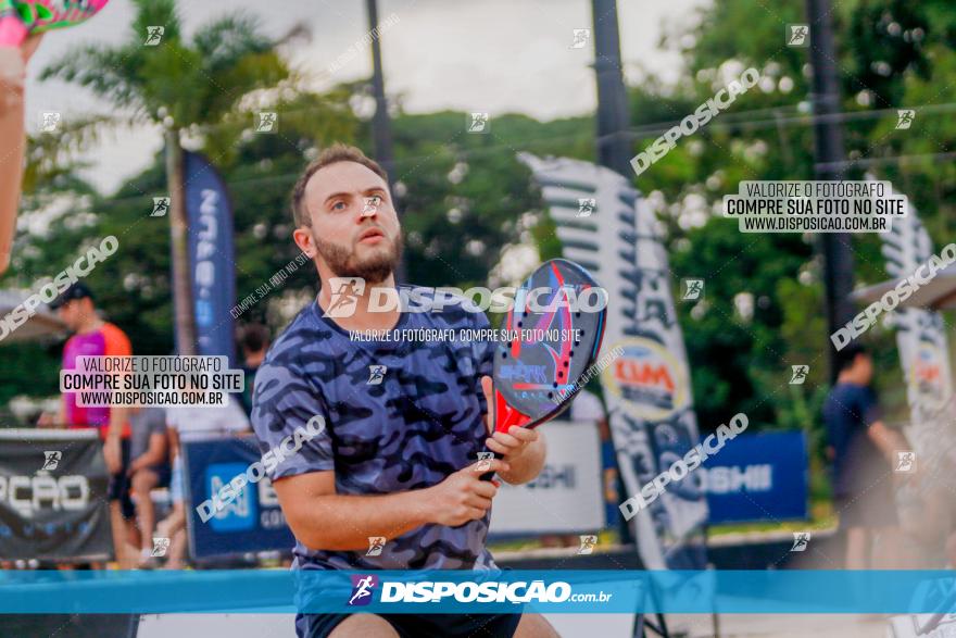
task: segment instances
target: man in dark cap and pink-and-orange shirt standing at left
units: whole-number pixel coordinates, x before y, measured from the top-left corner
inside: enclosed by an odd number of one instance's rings
[[[130,356],[129,338],[115,325],[97,314],[90,289],[77,282],[50,303],[73,336],[63,347],[63,370],[75,370],[78,356]],[[114,406],[77,405],[76,392],[64,392],[60,402],[58,424],[67,428],[95,427],[103,439],[103,456],[110,471],[110,520],[113,545],[121,567],[135,564],[125,539],[135,538],[135,510],[129,498],[129,435],[127,410]]]

